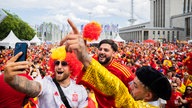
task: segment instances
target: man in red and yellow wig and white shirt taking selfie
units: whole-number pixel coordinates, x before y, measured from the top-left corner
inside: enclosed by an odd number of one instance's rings
[[[82,85],[77,85],[70,78],[73,72],[81,71],[82,64],[77,60],[74,53],[66,53],[64,46],[51,51],[49,65],[51,70],[55,72],[54,78],[50,76],[43,79],[37,77],[36,81],[29,81],[25,77],[18,76],[18,74],[25,73],[21,69],[29,68],[27,61],[15,62],[21,56],[22,53],[20,52],[7,62],[4,80],[16,90],[30,97],[38,97],[39,108],[87,107],[86,89]],[[61,97],[66,98],[61,99]]]

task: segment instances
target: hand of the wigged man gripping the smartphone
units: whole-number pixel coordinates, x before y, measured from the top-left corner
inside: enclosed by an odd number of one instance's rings
[[[9,61],[7,61],[4,69],[4,80],[7,83],[13,81],[14,77],[17,74],[26,73],[25,69],[29,68],[29,62],[27,61],[16,62],[16,60],[21,55],[22,55],[22,52],[18,53],[17,55],[12,57]]]

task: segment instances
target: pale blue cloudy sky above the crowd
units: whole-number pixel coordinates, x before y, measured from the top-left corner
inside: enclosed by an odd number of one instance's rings
[[[43,22],[77,26],[90,21],[101,24],[130,25],[131,0],[0,0],[0,8],[18,15],[31,26]],[[134,0],[134,24],[150,21],[150,0]]]

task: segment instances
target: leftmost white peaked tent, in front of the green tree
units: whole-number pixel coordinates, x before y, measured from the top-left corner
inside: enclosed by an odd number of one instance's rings
[[[21,40],[19,40],[19,38],[17,38],[17,36],[15,36],[13,31],[11,30],[10,33],[8,34],[8,36],[5,39],[3,39],[2,41],[0,41],[0,45],[5,46],[6,48],[8,48],[9,46],[11,48],[14,48],[15,43],[17,43],[17,42],[21,42]]]

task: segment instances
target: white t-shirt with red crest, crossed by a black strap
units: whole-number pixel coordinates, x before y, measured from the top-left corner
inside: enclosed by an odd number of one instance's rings
[[[37,79],[42,85],[42,90],[38,96],[40,108],[61,108],[64,104],[61,100],[57,86],[50,76]],[[66,88],[61,86],[64,94],[72,108],[84,108],[88,104],[87,91],[82,85],[77,85],[74,80],[70,80],[70,85]]]

